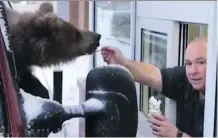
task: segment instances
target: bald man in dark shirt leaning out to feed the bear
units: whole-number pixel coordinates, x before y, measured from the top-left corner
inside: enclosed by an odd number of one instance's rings
[[[135,81],[150,86],[177,102],[176,126],[163,115],[148,118],[153,134],[159,137],[203,137],[204,94],[207,40],[193,40],[185,52],[185,66],[160,69],[152,64],[126,59],[114,47],[101,51],[108,64],[121,64],[130,70]]]

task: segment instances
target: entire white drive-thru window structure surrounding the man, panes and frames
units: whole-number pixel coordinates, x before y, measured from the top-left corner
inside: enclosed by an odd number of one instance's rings
[[[103,35],[102,45],[119,47],[124,55],[159,67],[184,65],[184,50],[196,37],[208,38],[204,136],[214,135],[216,92],[216,2],[213,1],[96,1],[90,2],[90,30]],[[194,7],[194,9],[193,9]],[[216,49],[216,50],[215,50]],[[94,67],[104,65],[97,53]],[[164,115],[176,122],[174,101],[137,84],[139,135],[151,136],[145,114],[148,99],[162,100]]]

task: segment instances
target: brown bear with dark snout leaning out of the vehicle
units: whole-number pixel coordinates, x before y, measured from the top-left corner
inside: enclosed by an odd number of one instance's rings
[[[11,47],[19,76],[19,87],[42,98],[48,90],[32,75],[31,66],[52,66],[92,54],[101,35],[82,31],[58,17],[53,5],[44,2],[35,12],[20,13],[6,8]]]

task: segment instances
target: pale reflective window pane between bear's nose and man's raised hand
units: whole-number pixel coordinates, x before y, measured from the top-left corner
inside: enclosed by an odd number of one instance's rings
[[[101,45],[118,47],[125,57],[131,58],[131,2],[96,1],[95,9],[95,31],[102,35]],[[100,52],[95,57],[95,66],[106,64]]]

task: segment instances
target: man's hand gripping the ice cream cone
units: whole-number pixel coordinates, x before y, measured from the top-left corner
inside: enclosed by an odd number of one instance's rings
[[[148,118],[151,123],[152,133],[158,137],[176,137],[178,128],[170,123],[161,114],[151,114]]]

